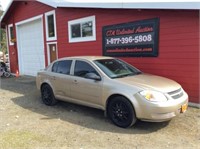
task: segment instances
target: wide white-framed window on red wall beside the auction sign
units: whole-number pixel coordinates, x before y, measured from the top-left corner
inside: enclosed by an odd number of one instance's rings
[[[96,40],[95,16],[69,21],[68,31],[69,42]]]

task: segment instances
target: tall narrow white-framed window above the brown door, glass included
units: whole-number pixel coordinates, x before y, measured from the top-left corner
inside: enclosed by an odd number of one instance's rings
[[[47,41],[57,40],[55,10],[45,13]]]

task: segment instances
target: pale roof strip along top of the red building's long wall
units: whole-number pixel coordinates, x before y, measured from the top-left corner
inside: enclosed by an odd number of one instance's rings
[[[199,2],[59,2],[54,3],[57,7],[66,8],[104,8],[104,9],[182,9],[199,10]]]

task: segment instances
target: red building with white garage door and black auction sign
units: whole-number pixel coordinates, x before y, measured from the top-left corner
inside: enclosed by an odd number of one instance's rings
[[[199,9],[198,3],[187,2],[14,0],[1,27],[7,31],[13,73],[35,76],[67,56],[118,56],[144,72],[177,81],[190,102],[199,103]]]

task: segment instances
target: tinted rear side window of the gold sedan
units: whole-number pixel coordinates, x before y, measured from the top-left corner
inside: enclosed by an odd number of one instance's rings
[[[62,60],[54,63],[52,67],[52,72],[61,74],[70,74],[71,60]]]

